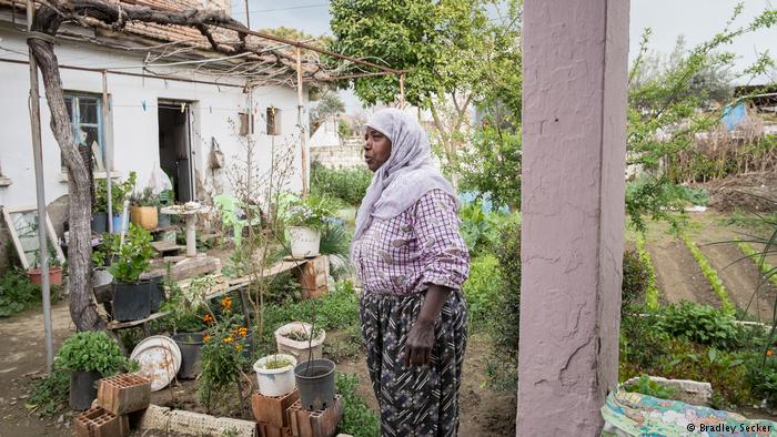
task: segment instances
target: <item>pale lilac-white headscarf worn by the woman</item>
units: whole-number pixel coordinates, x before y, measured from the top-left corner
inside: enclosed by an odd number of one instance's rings
[[[376,112],[366,126],[391,140],[391,156],[375,172],[362,200],[354,242],[370,228],[373,218],[393,218],[432,190],[443,190],[456,199],[453,186],[432,160],[426,132],[414,118],[390,108]]]

